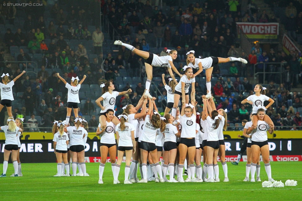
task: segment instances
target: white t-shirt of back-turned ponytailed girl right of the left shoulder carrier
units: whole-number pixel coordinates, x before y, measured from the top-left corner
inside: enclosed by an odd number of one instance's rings
[[[120,126],[121,123],[116,125],[115,129],[115,131],[119,132],[119,147],[133,147],[131,131],[134,131],[135,133],[135,127],[132,124],[125,122],[126,128],[121,131],[121,129],[119,128]]]

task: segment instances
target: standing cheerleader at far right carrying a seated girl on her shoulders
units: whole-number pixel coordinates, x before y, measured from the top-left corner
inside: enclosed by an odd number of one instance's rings
[[[252,164],[251,164],[251,182],[255,182],[255,172],[257,167],[257,162],[259,160],[259,155],[261,153],[262,159],[264,162],[265,171],[268,177],[268,181],[274,182],[272,178],[272,172],[270,167],[270,149],[267,142],[267,132],[273,134],[274,126],[270,126],[264,121],[265,110],[263,108],[258,109],[257,111],[258,122],[255,127],[248,129],[247,134],[252,134]],[[254,130],[256,129],[256,130]]]

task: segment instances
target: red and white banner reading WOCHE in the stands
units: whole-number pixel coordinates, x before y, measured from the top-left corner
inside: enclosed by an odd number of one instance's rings
[[[254,39],[277,39],[279,35],[279,23],[245,23],[237,22],[248,38]],[[240,37],[239,30],[238,37]]]

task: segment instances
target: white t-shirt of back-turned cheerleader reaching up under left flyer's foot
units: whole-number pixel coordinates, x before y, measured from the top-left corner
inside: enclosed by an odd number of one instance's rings
[[[159,128],[154,128],[153,125],[151,124],[150,115],[146,115],[142,134],[140,136],[140,141],[150,142],[155,144],[157,129]]]

